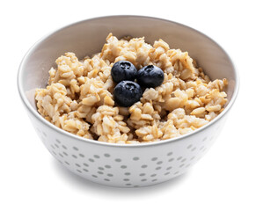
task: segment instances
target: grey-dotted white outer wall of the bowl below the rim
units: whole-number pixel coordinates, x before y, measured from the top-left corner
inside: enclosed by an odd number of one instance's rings
[[[212,136],[170,142],[164,148],[119,148],[53,138],[37,130],[50,153],[60,164],[78,175],[108,186],[151,186],[183,174],[203,156],[213,141]],[[92,146],[92,145],[91,145]],[[141,151],[140,151],[141,150]]]

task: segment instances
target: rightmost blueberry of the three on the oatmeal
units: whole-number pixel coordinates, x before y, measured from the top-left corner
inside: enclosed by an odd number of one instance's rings
[[[157,66],[148,65],[138,71],[137,82],[143,87],[157,87],[164,81],[165,75]]]

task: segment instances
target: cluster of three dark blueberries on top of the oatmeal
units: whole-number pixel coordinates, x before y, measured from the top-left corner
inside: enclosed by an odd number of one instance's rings
[[[132,106],[142,98],[142,87],[155,88],[161,85],[165,78],[163,70],[154,65],[137,70],[128,61],[115,62],[111,69],[111,76],[117,83],[113,90],[114,101],[124,107]]]

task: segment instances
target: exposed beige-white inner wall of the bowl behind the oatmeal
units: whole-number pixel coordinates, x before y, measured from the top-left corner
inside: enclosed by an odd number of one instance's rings
[[[20,70],[20,87],[31,106],[36,109],[34,91],[46,87],[48,70],[65,52],[74,52],[78,58],[98,53],[108,33],[117,38],[126,35],[145,37],[153,44],[162,39],[171,48],[187,51],[211,79],[227,78],[228,100],[234,94],[236,72],[229,56],[215,41],[185,25],[172,21],[134,16],[93,18],[66,26],[40,40],[26,55]]]

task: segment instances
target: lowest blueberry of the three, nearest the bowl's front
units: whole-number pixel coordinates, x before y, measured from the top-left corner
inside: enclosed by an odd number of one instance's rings
[[[142,96],[141,86],[131,81],[122,81],[113,90],[114,101],[123,107],[133,106]]]

